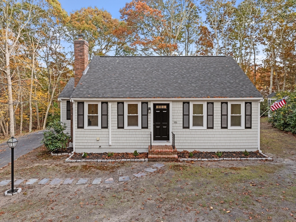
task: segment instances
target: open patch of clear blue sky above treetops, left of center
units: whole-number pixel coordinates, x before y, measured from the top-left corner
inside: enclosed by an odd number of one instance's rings
[[[129,0],[59,0],[62,7],[69,13],[83,7],[104,8],[113,18],[120,18],[119,9],[123,8]]]

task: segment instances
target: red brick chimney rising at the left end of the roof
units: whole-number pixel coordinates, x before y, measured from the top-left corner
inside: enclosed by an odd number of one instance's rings
[[[82,35],[78,35],[78,39],[74,41],[74,57],[74,87],[76,87],[82,72],[89,64],[89,44],[83,39]]]

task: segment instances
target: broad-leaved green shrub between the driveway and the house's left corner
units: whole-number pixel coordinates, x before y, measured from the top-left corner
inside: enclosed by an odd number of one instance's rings
[[[65,134],[66,124],[60,121],[54,121],[48,124],[47,131],[43,133],[44,137],[41,143],[47,148],[48,151],[56,151],[62,149],[66,151],[66,144],[71,138],[70,135]]]

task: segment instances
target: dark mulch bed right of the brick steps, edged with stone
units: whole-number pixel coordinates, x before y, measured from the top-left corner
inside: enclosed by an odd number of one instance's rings
[[[249,152],[248,156],[244,155],[244,152],[222,152],[222,156],[217,156],[216,152],[200,152],[192,151],[193,156],[189,157],[189,151],[178,151],[179,159],[219,159],[219,158],[266,158],[259,153],[259,151]]]

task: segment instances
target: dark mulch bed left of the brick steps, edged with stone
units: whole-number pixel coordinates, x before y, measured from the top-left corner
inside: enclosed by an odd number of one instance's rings
[[[148,153],[139,153],[139,156],[134,156],[133,153],[114,153],[108,157],[108,153],[87,153],[86,157],[82,157],[82,153],[74,153],[70,159],[146,159]]]

